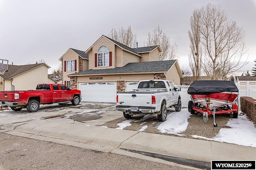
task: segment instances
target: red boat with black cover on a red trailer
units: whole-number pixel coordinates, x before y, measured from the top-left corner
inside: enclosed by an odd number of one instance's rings
[[[191,114],[203,115],[205,122],[208,116],[213,115],[214,127],[216,114],[233,114],[238,117],[238,88],[233,81],[200,80],[194,81],[188,88],[191,101],[188,102],[188,111]]]

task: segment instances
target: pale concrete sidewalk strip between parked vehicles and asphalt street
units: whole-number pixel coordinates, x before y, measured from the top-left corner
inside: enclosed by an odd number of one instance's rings
[[[0,132],[103,152],[131,149],[204,162],[256,158],[254,147],[95,126],[98,124],[44,119],[4,125]]]

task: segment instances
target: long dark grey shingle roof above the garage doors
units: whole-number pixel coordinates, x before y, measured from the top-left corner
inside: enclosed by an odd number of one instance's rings
[[[149,61],[139,63],[128,63],[123,67],[107,68],[97,70],[85,70],[68,76],[90,75],[90,74],[116,74],[116,73],[139,73],[139,72],[167,72],[176,60]]]

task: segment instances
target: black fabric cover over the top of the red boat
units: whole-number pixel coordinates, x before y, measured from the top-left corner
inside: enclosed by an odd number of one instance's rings
[[[238,92],[238,88],[233,81],[224,80],[194,81],[188,88],[188,94],[209,95],[221,92]]]

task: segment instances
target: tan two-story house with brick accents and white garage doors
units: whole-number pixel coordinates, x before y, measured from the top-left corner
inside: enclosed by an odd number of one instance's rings
[[[69,49],[62,61],[63,82],[82,92],[84,102],[116,102],[140,80],[167,79],[180,85],[177,60],[159,61],[159,46],[130,48],[102,35],[88,50]]]

